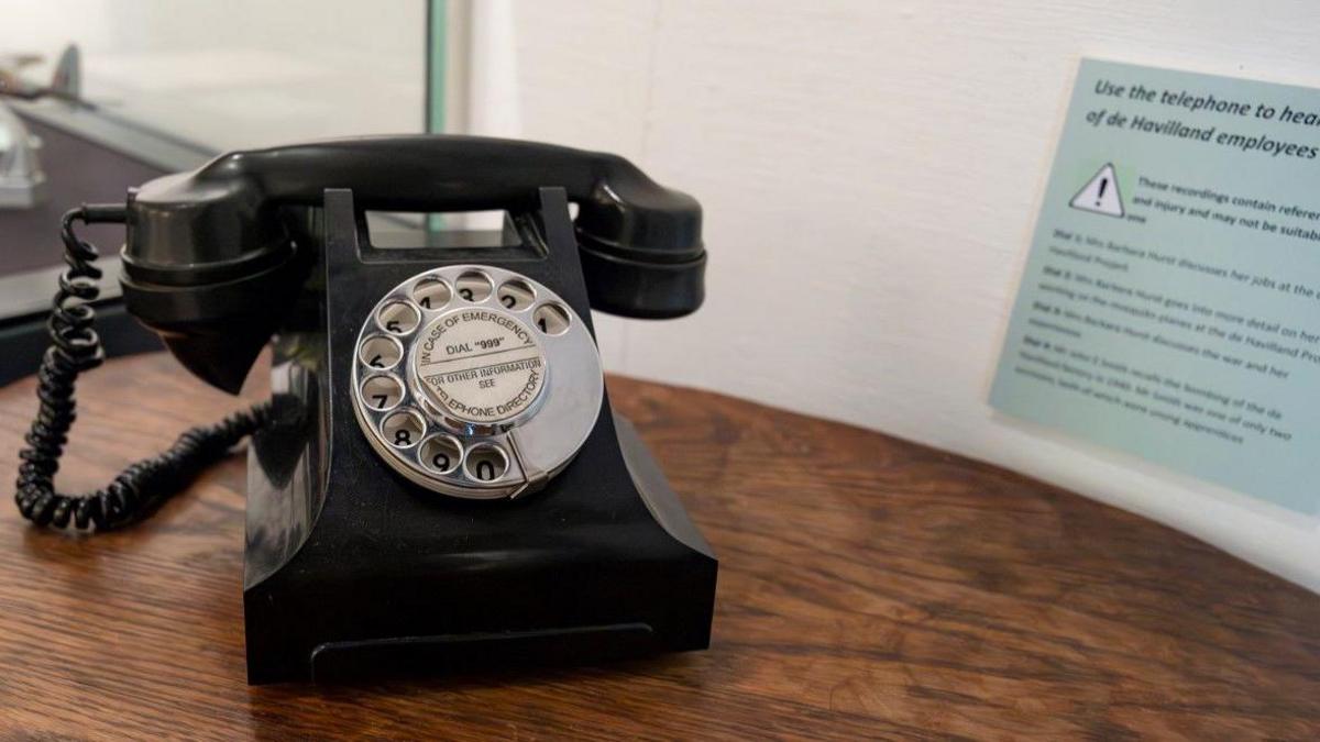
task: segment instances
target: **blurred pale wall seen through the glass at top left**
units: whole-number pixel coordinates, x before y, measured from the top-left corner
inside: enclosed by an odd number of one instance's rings
[[[0,0],[0,55],[70,41],[88,99],[215,151],[425,125],[425,0]]]

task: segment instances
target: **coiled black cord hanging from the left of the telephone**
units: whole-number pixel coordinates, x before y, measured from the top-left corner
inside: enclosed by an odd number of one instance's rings
[[[214,425],[183,432],[168,450],[128,466],[104,489],[83,495],[55,491],[59,457],[77,417],[75,382],[79,374],[106,359],[92,326],[96,312],[91,302],[100,296],[96,281],[102,271],[92,265],[98,253],[74,232],[74,223],[123,223],[125,219],[121,205],[83,205],[61,220],[59,236],[69,268],[59,276],[59,290],[46,322],[50,347],[37,370],[41,404],[24,438],[28,446],[18,452],[21,462],[13,498],[18,512],[37,525],[67,528],[73,522],[73,528],[79,531],[111,531],[136,523],[271,420],[271,403],[264,401]]]

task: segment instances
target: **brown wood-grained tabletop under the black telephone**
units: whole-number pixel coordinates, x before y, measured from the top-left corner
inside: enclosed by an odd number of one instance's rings
[[[236,455],[124,533],[67,537],[0,508],[0,738],[1320,735],[1317,595],[879,433],[610,391],[719,556],[710,651],[248,688]],[[108,363],[79,399],[66,489],[238,407],[160,354]],[[33,409],[30,380],[0,389],[5,482]]]

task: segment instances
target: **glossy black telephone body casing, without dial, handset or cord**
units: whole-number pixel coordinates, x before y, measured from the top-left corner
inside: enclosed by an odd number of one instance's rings
[[[275,343],[276,425],[249,452],[248,680],[341,681],[586,663],[710,642],[717,561],[632,426],[599,420],[545,490],[455,500],[399,477],[350,411],[362,318],[400,281],[480,263],[550,287],[590,325],[562,189],[513,214],[536,250],[371,248],[352,193],[327,191],[323,243]],[[594,331],[593,331],[594,334]]]

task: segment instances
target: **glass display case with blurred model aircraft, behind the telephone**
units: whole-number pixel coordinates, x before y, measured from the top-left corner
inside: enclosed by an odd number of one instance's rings
[[[426,131],[430,5],[0,0],[0,316],[49,302],[71,206],[228,149]]]

